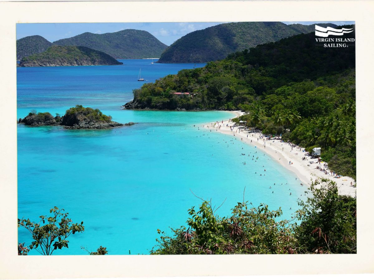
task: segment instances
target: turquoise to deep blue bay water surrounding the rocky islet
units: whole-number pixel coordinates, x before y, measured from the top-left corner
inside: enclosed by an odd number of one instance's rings
[[[217,205],[227,198],[218,210],[221,216],[242,201],[244,187],[246,200],[255,206],[281,206],[283,218],[292,216],[304,189],[291,172],[232,136],[201,129],[202,123],[228,119],[232,113],[120,110],[132,99],[132,89],[142,84],[136,81],[140,67],[145,79],[155,80],[193,64],[122,62],[17,68],[18,118],[31,109],[63,114],[82,104],[121,123],[139,122],[112,130],[77,131],[17,125],[18,217],[38,221],[57,206],[74,222],[84,221],[85,231],[69,238],[68,249],[53,254],[86,254],[80,246],[105,246],[113,255],[129,250],[147,254],[156,244],[158,228],[179,227],[188,218],[187,210],[200,204],[190,190]],[[252,155],[259,159],[250,160]],[[259,176],[264,169],[266,176]],[[18,233],[19,242],[30,244],[27,231]]]

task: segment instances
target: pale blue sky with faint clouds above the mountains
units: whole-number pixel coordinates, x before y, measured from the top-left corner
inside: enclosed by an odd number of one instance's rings
[[[285,24],[301,23],[326,23],[328,21],[295,21],[284,22]],[[353,24],[353,21],[329,21],[337,25]],[[213,25],[223,22],[135,22],[135,23],[31,23],[17,24],[17,39],[26,36],[40,35],[50,42],[69,38],[82,34],[84,32],[91,33],[108,33],[116,32],[123,29],[145,30],[159,39],[168,46],[180,37],[195,30],[205,29]]]

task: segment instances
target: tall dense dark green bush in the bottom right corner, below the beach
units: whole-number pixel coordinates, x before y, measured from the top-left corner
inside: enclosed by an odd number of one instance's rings
[[[298,251],[357,253],[356,198],[340,196],[337,185],[327,179],[322,179],[319,187],[312,184],[310,191],[312,197],[299,201]]]

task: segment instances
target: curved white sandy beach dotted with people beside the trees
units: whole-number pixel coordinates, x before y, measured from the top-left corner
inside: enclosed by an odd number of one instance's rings
[[[233,113],[235,113],[237,116],[241,116],[243,114],[240,111],[234,111]],[[318,178],[327,178],[337,183],[339,194],[349,195],[352,197],[355,196],[356,188],[351,187],[350,185],[351,182],[353,185],[355,185],[354,179],[347,176],[335,178],[330,173],[326,175],[321,170],[316,169],[317,166],[322,167],[323,169],[325,162],[321,161],[321,164],[319,165],[317,159],[312,159],[309,156],[304,156],[306,152],[303,152],[303,148],[301,148],[300,151],[300,147],[294,147],[291,151],[291,146],[289,146],[288,143],[275,139],[264,141],[265,138],[260,139],[260,133],[248,133],[248,131],[239,132],[237,127],[234,127],[234,130],[232,132],[230,130],[230,126],[233,126],[234,123],[229,122],[229,120],[224,120],[223,123],[219,121],[219,124],[221,125],[221,128],[218,128],[217,124],[215,125],[215,127],[212,127],[211,123],[203,124],[203,128],[209,130],[212,129],[212,131],[213,129],[214,131],[217,129],[218,132],[232,136],[235,135],[235,137],[238,138],[239,141],[242,141],[243,143],[246,143],[248,145],[256,146],[258,149],[263,150],[264,153],[269,154],[271,157],[273,157],[274,160],[282,164],[282,166],[294,172],[298,179],[300,179],[300,181],[304,184],[303,187],[305,189],[310,186],[312,181],[315,181]],[[226,127],[226,124],[229,124],[229,126]],[[243,138],[243,140],[240,140],[241,138]],[[264,143],[266,147],[264,147]],[[303,160],[303,157],[306,157],[307,160]],[[289,164],[290,161],[292,162],[292,164]],[[314,161],[315,163],[310,164],[310,161]],[[308,166],[308,164],[310,166]]]

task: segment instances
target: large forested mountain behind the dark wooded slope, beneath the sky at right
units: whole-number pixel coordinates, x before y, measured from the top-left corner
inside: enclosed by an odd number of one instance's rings
[[[303,33],[302,26],[291,26],[282,22],[234,22],[215,25],[181,37],[162,53],[157,62],[215,61],[258,44],[275,42]],[[306,28],[310,26],[307,25]]]

